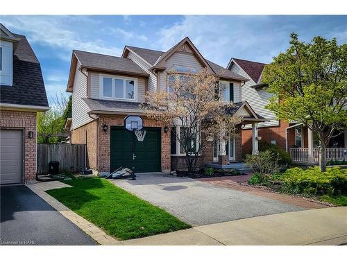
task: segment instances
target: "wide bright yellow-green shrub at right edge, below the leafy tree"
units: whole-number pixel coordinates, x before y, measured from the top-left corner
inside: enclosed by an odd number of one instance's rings
[[[288,193],[310,196],[339,195],[347,193],[347,170],[338,167],[321,172],[319,167],[290,168],[279,177],[280,189]]]

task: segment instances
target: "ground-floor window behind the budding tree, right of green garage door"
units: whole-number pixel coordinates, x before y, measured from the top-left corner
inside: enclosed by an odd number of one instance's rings
[[[181,146],[180,141],[178,141],[180,135],[183,132],[182,126],[175,126],[174,128],[171,128],[171,155],[185,155],[185,149],[183,146]],[[176,134],[177,133],[177,134]],[[189,153],[196,153],[198,150],[198,132],[192,137],[192,139],[189,140]]]

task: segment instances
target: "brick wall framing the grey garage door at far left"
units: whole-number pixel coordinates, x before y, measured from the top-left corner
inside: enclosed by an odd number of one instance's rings
[[[24,182],[33,182],[36,177],[36,112],[0,110],[1,128],[24,129]],[[33,138],[28,138],[28,132]]]

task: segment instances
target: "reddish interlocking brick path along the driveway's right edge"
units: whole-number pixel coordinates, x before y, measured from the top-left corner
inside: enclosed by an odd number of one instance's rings
[[[203,178],[203,179],[198,179],[201,180],[202,182],[208,182],[213,185],[217,185],[220,187],[225,187],[229,189],[235,189],[237,191],[243,191],[246,193],[251,193],[255,196],[260,196],[264,198],[269,198],[272,200],[279,200],[280,202],[285,202],[287,204],[295,205],[297,207],[302,207],[304,209],[321,209],[324,207],[328,207],[327,205],[323,205],[318,202],[314,202],[311,200],[308,200],[307,198],[301,198],[297,196],[289,196],[285,194],[279,194],[279,193],[274,193],[271,191],[266,191],[261,188],[256,188],[256,187],[250,187],[244,184],[239,184],[237,180],[242,180],[242,178],[236,178],[236,177],[242,177],[245,175],[240,175],[240,176],[224,176],[224,177],[210,177],[210,178]],[[251,176],[249,176],[251,177]],[[243,181],[241,181],[243,182]]]

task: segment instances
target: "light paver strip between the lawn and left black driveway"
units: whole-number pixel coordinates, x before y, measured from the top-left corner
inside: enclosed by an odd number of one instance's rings
[[[35,192],[38,196],[40,196],[43,200],[45,200],[49,205],[51,205],[54,209],[60,212],[62,216],[65,216],[68,220],[74,223],[77,227],[83,230],[83,232],[87,233],[92,239],[94,239],[100,245],[122,245],[120,241],[112,238],[103,230],[96,227],[93,223],[85,220],[74,211],[71,211],[68,207],[60,203],[58,200],[50,196],[45,191],[49,189],[60,189],[65,187],[71,187],[62,182],[53,181],[53,182],[37,182],[35,184],[26,185],[33,192]]]

